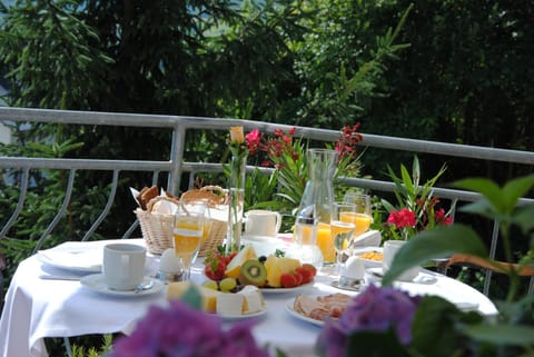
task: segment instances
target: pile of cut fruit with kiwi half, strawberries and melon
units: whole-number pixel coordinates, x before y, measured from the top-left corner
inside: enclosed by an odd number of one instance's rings
[[[255,286],[264,292],[287,291],[310,284],[317,274],[313,265],[276,252],[258,257],[253,246],[229,256],[211,252],[204,264],[204,286],[231,292],[244,286]]]

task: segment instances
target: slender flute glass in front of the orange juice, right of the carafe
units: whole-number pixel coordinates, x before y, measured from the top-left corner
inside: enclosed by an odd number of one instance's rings
[[[344,255],[352,246],[354,230],[356,228],[352,217],[356,214],[356,205],[334,202],[330,218],[330,235],[336,249],[336,271],[340,272]]]

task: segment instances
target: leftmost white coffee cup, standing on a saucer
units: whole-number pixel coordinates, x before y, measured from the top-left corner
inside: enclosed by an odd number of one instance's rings
[[[111,290],[134,290],[145,278],[147,249],[132,244],[110,244],[103,247],[102,274]]]

